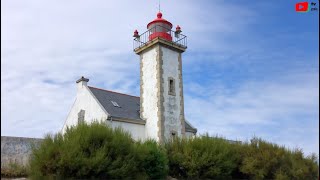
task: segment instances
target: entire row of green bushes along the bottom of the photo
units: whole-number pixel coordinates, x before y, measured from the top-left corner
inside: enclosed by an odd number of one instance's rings
[[[317,179],[317,157],[304,157],[253,138],[229,142],[208,135],[163,145],[135,142],[121,129],[98,122],[46,136],[33,148],[30,177],[76,179]],[[2,172],[1,172],[2,174]]]

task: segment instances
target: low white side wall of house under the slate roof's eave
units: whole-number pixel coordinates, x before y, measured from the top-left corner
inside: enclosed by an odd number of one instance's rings
[[[145,125],[141,124],[133,124],[133,123],[126,123],[126,122],[119,122],[119,121],[108,121],[108,124],[111,125],[111,127],[121,127],[123,130],[129,132],[131,134],[131,137],[134,140],[144,140],[145,138]]]

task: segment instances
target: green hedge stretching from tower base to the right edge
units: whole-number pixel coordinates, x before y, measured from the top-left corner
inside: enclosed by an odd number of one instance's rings
[[[317,179],[315,155],[253,138],[229,142],[208,135],[166,143],[169,175],[181,179]]]

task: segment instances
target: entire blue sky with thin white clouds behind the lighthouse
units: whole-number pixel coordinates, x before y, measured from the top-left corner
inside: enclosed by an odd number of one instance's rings
[[[188,36],[185,114],[200,133],[318,153],[319,12],[297,13],[296,2],[161,2],[163,18]],[[139,95],[132,34],[146,30],[157,7],[1,1],[1,135],[59,131],[82,75],[91,86]]]

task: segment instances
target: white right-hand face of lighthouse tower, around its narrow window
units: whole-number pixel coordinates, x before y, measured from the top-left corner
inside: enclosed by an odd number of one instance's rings
[[[163,56],[163,96],[164,96],[164,137],[170,139],[172,131],[181,136],[181,121],[180,121],[180,79],[179,79],[179,53],[171,49],[161,47]],[[175,81],[175,95],[169,95],[169,80],[172,77]]]

